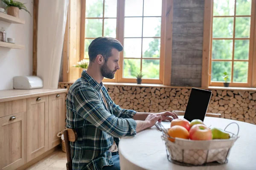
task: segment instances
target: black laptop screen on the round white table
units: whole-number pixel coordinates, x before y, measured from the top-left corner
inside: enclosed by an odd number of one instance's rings
[[[190,122],[194,119],[204,121],[211,95],[212,91],[192,88],[184,118]]]

